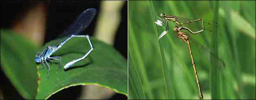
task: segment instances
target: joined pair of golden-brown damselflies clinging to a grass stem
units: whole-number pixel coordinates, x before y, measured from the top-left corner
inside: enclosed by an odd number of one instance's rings
[[[193,53],[192,53],[192,48],[191,48],[191,43],[190,43],[191,39],[190,39],[190,36],[187,32],[190,32],[193,35],[203,32],[205,30],[205,27],[204,27],[205,22],[204,22],[203,18],[182,22],[182,21],[179,20],[179,17],[174,16],[174,15],[166,15],[165,13],[161,13],[160,17],[158,17],[158,18],[160,20],[155,21],[155,23],[157,25],[163,26],[166,23],[166,30],[161,33],[161,35],[158,37],[158,39],[162,38],[163,36],[165,36],[167,34],[167,32],[169,30],[168,21],[173,21],[173,22],[176,23],[176,26],[173,28],[173,31],[176,33],[176,35],[179,39],[181,39],[182,41],[184,41],[184,43],[186,43],[188,45],[189,54],[190,54],[192,66],[193,66],[193,69],[194,69],[194,75],[195,75],[195,78],[196,78],[196,84],[197,84],[197,87],[198,87],[199,96],[202,99],[203,94],[202,94],[202,90],[201,90],[201,87],[200,87],[200,81],[199,81],[199,77],[198,77],[198,74],[197,74],[197,71],[196,71],[196,64],[195,64]],[[185,26],[187,24],[193,24],[195,22],[200,22],[200,24],[201,24],[201,28],[197,31],[194,31],[194,29],[192,29],[192,27]],[[208,23],[208,22],[206,22],[206,23],[207,23],[207,25],[212,24],[214,26],[217,26],[216,24],[213,24],[213,23]],[[203,48],[205,49],[205,47],[203,47]],[[208,50],[208,52],[210,52],[210,50]],[[220,61],[222,68],[225,66],[224,62],[221,59],[219,59],[218,56],[216,56],[215,54],[213,54],[211,52],[210,52],[210,54],[212,54],[213,57],[217,58]]]

